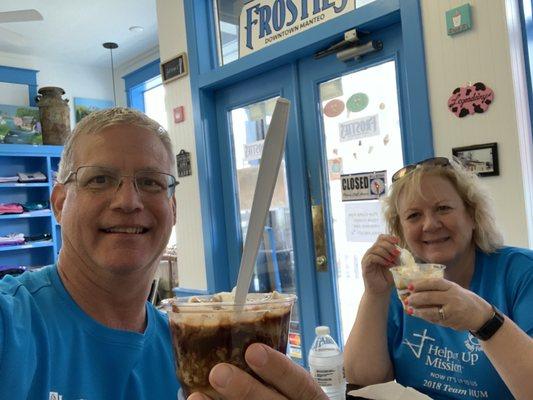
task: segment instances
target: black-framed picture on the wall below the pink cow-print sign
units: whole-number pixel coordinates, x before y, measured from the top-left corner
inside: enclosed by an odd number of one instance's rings
[[[479,176],[500,175],[498,143],[455,147],[452,153],[468,170]]]

